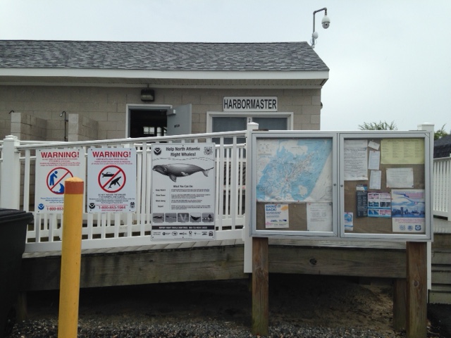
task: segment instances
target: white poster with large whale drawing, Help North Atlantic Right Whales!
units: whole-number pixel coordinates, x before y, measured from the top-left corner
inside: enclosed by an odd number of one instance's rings
[[[152,144],[152,239],[215,239],[214,149]]]

